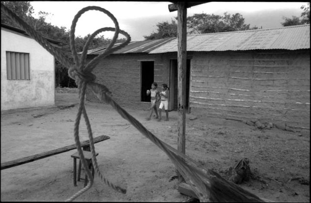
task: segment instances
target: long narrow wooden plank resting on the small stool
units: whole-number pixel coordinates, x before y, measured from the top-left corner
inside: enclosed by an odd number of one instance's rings
[[[101,135],[101,136],[98,136],[98,137],[94,138],[93,140],[94,140],[94,143],[98,143],[98,142],[102,142],[102,141],[108,140],[108,139],[110,139],[109,136]],[[87,140],[87,141],[82,142],[81,146],[82,147],[89,146],[89,141]],[[29,162],[32,162],[32,161],[36,161],[36,160],[39,160],[39,159],[43,159],[43,158],[46,158],[46,157],[49,157],[49,156],[54,156],[56,154],[63,153],[63,152],[66,152],[66,151],[70,151],[70,150],[76,149],[76,148],[77,147],[76,147],[75,144],[74,145],[68,145],[68,146],[60,147],[60,148],[57,148],[57,149],[54,149],[54,150],[46,151],[46,152],[43,152],[43,153],[39,153],[39,154],[23,157],[23,158],[20,158],[20,159],[15,159],[15,160],[12,160],[12,161],[4,162],[4,163],[1,163],[1,170],[8,169],[8,168],[15,167],[15,166],[19,166],[19,165],[22,165],[22,164],[26,164],[26,163],[29,163]]]

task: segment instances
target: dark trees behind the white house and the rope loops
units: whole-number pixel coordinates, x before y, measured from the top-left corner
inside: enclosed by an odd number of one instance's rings
[[[64,57],[73,61],[70,50],[69,31],[65,27],[57,27],[51,23],[46,22],[46,19],[50,13],[40,11],[38,17],[33,17],[33,7],[30,1],[1,1],[6,7],[16,13],[33,29],[41,33],[43,36],[56,39],[66,44],[60,50]],[[1,13],[1,23],[19,27],[14,21],[8,18],[4,13]],[[82,52],[86,40],[90,34],[85,37],[78,36],[75,38],[77,52]],[[125,39],[118,39],[117,42],[123,42]],[[104,36],[95,37],[88,49],[94,49],[100,46],[105,46],[111,42],[110,39],[104,38]],[[55,75],[56,75],[56,87],[77,87],[75,81],[68,76],[68,70],[59,61],[55,60]]]

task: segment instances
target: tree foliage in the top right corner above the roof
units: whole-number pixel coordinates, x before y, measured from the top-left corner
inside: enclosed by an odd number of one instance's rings
[[[283,17],[284,22],[281,23],[283,27],[310,24],[310,2],[300,8],[303,10],[300,15],[301,19],[297,16],[292,16],[292,18]]]

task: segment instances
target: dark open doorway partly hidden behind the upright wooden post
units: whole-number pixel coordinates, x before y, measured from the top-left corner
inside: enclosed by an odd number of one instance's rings
[[[178,64],[177,59],[170,60],[170,103],[169,110],[177,110],[178,106]],[[186,110],[189,109],[189,87],[190,87],[190,59],[187,59],[186,69]]]

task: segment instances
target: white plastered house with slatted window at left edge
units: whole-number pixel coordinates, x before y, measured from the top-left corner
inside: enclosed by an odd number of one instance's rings
[[[1,24],[1,111],[50,105],[55,105],[54,56],[24,30]]]

